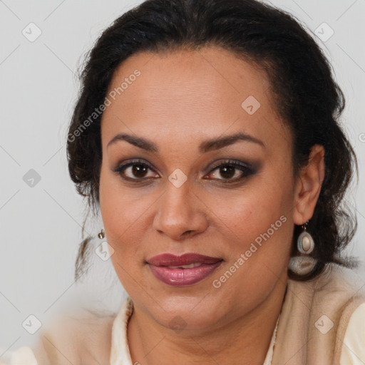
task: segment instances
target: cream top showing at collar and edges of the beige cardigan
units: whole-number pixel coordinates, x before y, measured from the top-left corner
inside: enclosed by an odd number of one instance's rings
[[[127,326],[130,314],[133,312],[133,304],[126,299],[113,322],[112,345],[110,349],[110,365],[133,365],[127,342]],[[280,316],[279,316],[280,318]],[[277,326],[279,324],[277,319]],[[274,343],[276,339],[275,328],[272,340],[267,351],[263,365],[271,365]],[[0,365],[41,365],[36,361],[33,351],[28,346],[20,347],[16,351],[0,349]],[[5,357],[6,355],[6,357]],[[6,358],[10,359],[6,361]],[[349,325],[344,337],[344,346],[341,351],[341,365],[364,365],[365,364],[365,303],[351,315]]]

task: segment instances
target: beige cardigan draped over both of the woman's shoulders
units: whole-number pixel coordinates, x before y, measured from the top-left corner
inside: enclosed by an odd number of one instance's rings
[[[310,282],[288,279],[287,284],[272,365],[341,365],[349,319],[365,303],[364,282],[331,264]],[[110,365],[115,315],[88,313],[48,325],[33,349],[38,365]],[[365,331],[365,319],[362,325]]]

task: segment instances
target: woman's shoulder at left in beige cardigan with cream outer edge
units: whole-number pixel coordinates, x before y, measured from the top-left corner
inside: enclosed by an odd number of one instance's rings
[[[0,365],[108,365],[115,314],[88,309],[58,315],[38,336],[32,349],[24,346]]]

